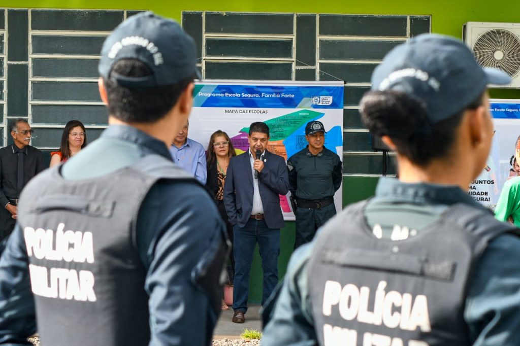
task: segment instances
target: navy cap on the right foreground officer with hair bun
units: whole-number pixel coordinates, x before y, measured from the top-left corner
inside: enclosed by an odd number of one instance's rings
[[[388,52],[371,82],[372,90],[398,90],[418,99],[434,124],[470,105],[488,84],[509,84],[511,78],[480,66],[458,39],[422,34]]]

